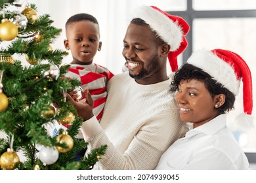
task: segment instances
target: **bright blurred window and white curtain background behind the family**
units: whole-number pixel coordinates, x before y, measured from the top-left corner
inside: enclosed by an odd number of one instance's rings
[[[100,25],[102,50],[96,54],[95,63],[110,69],[112,73],[122,72],[125,59],[121,55],[123,37],[130,14],[140,5],[154,5],[170,14],[182,16],[190,24],[188,48],[179,56],[179,65],[186,62],[190,54],[206,48],[222,48],[236,52],[247,62],[253,78],[253,91],[256,90],[256,1],[255,0],[31,0],[20,4],[33,3],[37,14],[49,14],[54,26],[62,29],[62,34],[53,45],[54,49],[65,49],[64,39],[66,20],[74,14],[86,12],[95,16]],[[22,10],[21,7],[15,7]],[[26,59],[24,65],[29,65]],[[72,61],[71,53],[63,64]],[[169,64],[169,63],[168,63]],[[171,69],[168,65],[168,72]],[[241,83],[242,84],[242,83]],[[242,86],[241,86],[242,89]],[[255,92],[253,92],[255,99]],[[255,100],[256,101],[256,100]],[[255,101],[253,102],[254,107]],[[251,121],[238,120],[243,112],[242,90],[236,98],[235,110],[228,114],[228,125],[234,131],[237,141],[244,148],[253,169],[256,163],[256,109]]]

